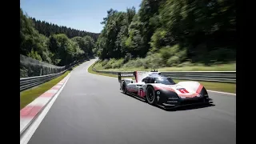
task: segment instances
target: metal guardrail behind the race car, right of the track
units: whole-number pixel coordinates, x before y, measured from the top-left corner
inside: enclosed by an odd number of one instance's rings
[[[95,62],[94,64],[96,64]],[[133,77],[133,71],[105,71],[93,70],[98,73],[116,74],[122,73],[122,77]],[[191,81],[205,81],[205,82],[230,82],[236,83],[236,71],[171,71],[161,72],[162,75],[170,78]]]

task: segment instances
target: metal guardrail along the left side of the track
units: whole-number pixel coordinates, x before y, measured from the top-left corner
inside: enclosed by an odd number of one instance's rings
[[[82,61],[85,62],[85,61]],[[66,66],[66,70],[69,70],[70,68],[73,68],[74,66],[82,63],[82,62],[73,62],[70,65]],[[47,74],[42,76],[36,76],[36,77],[29,77],[29,78],[20,78],[20,92],[23,90],[30,89],[34,86],[41,85],[42,83],[48,82],[54,78],[58,78],[62,74],[66,72],[66,70],[63,70],[60,73],[57,74]]]

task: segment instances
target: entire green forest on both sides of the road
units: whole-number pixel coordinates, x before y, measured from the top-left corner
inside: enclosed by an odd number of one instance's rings
[[[20,10],[20,54],[66,66],[94,54],[104,69],[205,66],[236,61],[234,0],[142,0],[107,10],[94,34],[41,22]]]

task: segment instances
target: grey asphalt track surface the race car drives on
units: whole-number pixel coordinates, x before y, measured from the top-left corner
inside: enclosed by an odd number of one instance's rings
[[[88,73],[93,62],[72,71],[29,144],[235,143],[236,96],[209,92],[215,106],[166,111]]]

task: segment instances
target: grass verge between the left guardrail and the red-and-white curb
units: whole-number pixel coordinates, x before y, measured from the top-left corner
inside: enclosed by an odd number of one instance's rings
[[[55,86],[69,73],[70,71],[66,71],[65,74],[62,74],[58,78],[54,78],[49,82],[43,83],[42,85],[32,89],[22,91],[20,94],[20,110],[22,110],[22,108],[28,105],[30,102],[33,102],[35,98],[38,98],[41,94],[45,93],[47,90],[50,90],[51,87]]]

